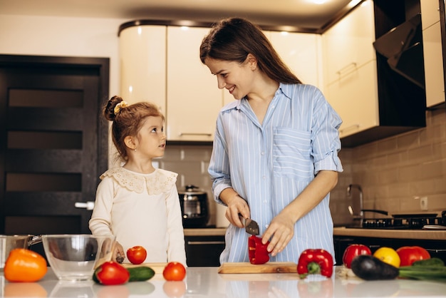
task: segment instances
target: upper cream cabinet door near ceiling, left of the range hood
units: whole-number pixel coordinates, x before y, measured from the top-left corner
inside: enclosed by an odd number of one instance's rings
[[[368,0],[323,34],[325,83],[375,59],[374,24],[373,1]]]

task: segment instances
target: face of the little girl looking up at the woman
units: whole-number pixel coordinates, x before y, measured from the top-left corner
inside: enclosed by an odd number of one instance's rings
[[[166,135],[163,132],[162,118],[149,116],[145,118],[135,138],[136,153],[147,158],[159,158],[164,155]]]

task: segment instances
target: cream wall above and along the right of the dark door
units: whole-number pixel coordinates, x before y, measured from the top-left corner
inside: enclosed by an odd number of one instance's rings
[[[110,58],[110,95],[115,95],[120,88],[118,28],[126,21],[10,16],[0,12],[0,53]]]

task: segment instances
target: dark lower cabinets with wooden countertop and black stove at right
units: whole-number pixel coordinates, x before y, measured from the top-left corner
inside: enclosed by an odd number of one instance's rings
[[[341,229],[341,230],[339,230]],[[350,232],[349,232],[350,231]],[[424,247],[431,257],[446,262],[446,211],[364,218],[362,226],[334,229],[337,264],[342,264],[348,245],[363,244],[372,252],[379,247]]]

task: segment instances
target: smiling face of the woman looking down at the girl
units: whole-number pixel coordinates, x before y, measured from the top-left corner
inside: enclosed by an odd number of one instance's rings
[[[249,58],[242,64],[212,58],[206,58],[204,62],[211,73],[217,76],[218,88],[227,88],[235,99],[241,99],[252,91],[254,71]]]

